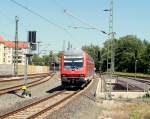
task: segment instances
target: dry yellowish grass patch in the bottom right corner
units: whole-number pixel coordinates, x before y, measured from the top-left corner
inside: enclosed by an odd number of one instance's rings
[[[148,102],[108,102],[102,107],[101,117],[112,119],[150,119],[149,105],[150,103]]]

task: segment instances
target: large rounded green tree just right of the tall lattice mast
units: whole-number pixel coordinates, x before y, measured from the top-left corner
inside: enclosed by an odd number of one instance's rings
[[[117,71],[134,72],[135,61],[137,62],[137,71],[140,72],[142,63],[142,54],[144,45],[142,41],[133,35],[127,35],[119,38],[115,49],[115,66]]]

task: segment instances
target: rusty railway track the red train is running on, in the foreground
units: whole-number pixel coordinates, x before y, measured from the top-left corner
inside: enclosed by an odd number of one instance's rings
[[[76,90],[76,91],[62,90],[60,92],[56,92],[55,94],[47,96],[38,101],[35,101],[32,104],[26,105],[12,112],[1,115],[0,119],[44,118],[46,114],[49,115],[54,110],[59,109],[60,105],[65,104],[65,102],[70,101],[73,97],[80,95],[81,93],[88,90],[93,82],[94,81],[91,81],[91,83],[87,87],[85,87],[84,90]]]

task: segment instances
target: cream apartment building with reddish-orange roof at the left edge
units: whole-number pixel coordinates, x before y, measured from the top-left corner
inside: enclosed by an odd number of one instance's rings
[[[25,64],[25,54],[27,53],[27,43],[18,43],[18,65]],[[5,41],[0,36],[0,64],[13,64],[15,54],[15,43]]]

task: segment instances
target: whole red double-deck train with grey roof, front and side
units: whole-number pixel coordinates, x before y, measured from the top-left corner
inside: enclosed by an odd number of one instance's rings
[[[62,86],[81,87],[94,76],[94,60],[82,50],[68,50],[62,53],[60,65]]]

